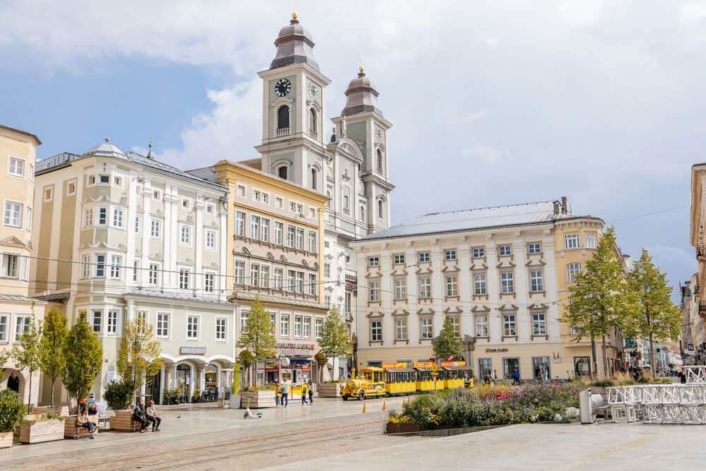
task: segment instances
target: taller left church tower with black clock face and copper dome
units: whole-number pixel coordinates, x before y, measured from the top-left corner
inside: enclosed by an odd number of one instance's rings
[[[263,81],[263,138],[256,150],[263,172],[324,192],[325,88],[331,81],[313,56],[314,42],[292,13],[275,40],[277,53]]]

